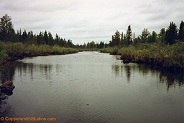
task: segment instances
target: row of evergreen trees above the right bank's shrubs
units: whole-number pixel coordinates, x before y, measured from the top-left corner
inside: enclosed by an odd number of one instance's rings
[[[179,29],[176,24],[170,22],[168,29],[162,28],[160,32],[157,34],[155,31],[150,33],[147,28],[144,28],[142,34],[135,37],[135,33],[132,33],[131,26],[128,26],[126,34],[117,30],[114,35],[112,35],[112,39],[109,42],[110,47],[114,46],[129,46],[129,45],[137,45],[141,43],[163,43],[172,45],[177,41],[184,42],[184,22],[181,21]]]

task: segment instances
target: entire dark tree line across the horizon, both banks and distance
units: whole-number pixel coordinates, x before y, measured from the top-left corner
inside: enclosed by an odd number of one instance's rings
[[[33,31],[27,32],[17,30],[15,32],[11,17],[7,14],[0,18],[0,41],[4,42],[22,42],[23,44],[37,44],[37,45],[59,45],[61,47],[75,47],[75,48],[106,48],[106,47],[126,47],[129,45],[137,45],[141,43],[162,43],[172,45],[177,41],[184,42],[184,22],[181,21],[179,29],[174,22],[170,22],[167,29],[162,28],[157,34],[155,31],[149,32],[144,28],[141,35],[135,36],[132,33],[131,26],[128,26],[126,33],[120,33],[118,30],[112,35],[109,43],[103,41],[95,43],[94,41],[84,43],[83,45],[72,43],[72,40],[66,40],[56,34],[54,37],[51,32],[44,31],[39,34],[34,34]]]

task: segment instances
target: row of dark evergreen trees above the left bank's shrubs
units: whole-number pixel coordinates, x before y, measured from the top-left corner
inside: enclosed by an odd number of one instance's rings
[[[74,47],[72,40],[61,38],[58,34],[53,37],[51,32],[44,31],[39,34],[34,34],[33,31],[27,32],[13,28],[12,19],[7,14],[0,18],[0,41],[3,42],[22,42],[23,44],[36,44],[36,45],[59,45],[61,47]]]

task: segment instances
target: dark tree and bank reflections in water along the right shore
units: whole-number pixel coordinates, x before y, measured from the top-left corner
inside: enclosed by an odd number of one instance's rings
[[[139,72],[143,76],[146,76],[151,73],[151,75],[158,76],[161,83],[167,84],[167,89],[170,87],[181,86],[184,84],[184,73],[175,72],[160,69],[157,67],[149,65],[138,65],[138,64],[115,64],[112,65],[112,71],[115,76],[123,77],[123,72],[127,78],[127,81],[130,82],[131,74],[133,72]]]

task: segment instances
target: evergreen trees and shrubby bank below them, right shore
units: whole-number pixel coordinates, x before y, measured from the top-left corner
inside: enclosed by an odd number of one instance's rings
[[[119,31],[112,36],[109,45],[101,52],[121,55],[124,63],[146,63],[175,71],[184,70],[184,22],[179,29],[171,22],[168,29],[150,33],[144,29],[138,37],[132,36],[128,26],[124,35]]]

